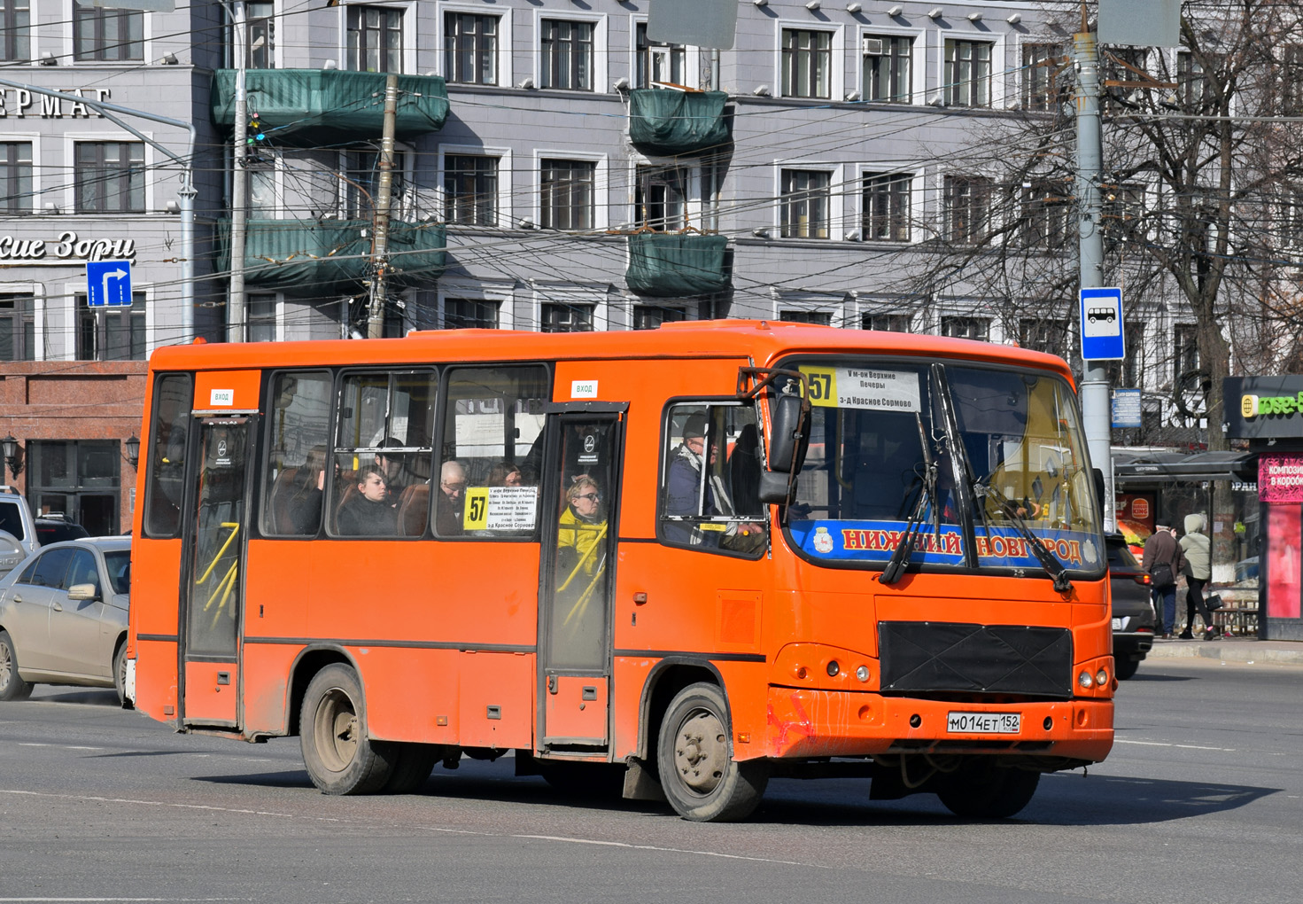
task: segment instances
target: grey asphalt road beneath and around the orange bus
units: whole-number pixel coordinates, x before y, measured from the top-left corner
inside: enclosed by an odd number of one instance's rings
[[[1106,763],[1005,822],[775,780],[743,824],[568,798],[509,759],[337,798],[297,740],[172,734],[112,693],[0,703],[4,901],[1298,901],[1303,668],[1149,661]]]

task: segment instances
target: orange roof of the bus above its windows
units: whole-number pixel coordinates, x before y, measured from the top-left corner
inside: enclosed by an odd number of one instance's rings
[[[533,333],[526,330],[422,330],[401,339],[324,339],[165,346],[150,356],[154,370],[224,370],[281,367],[418,364],[423,361],[620,360],[751,357],[767,365],[794,352],[886,354],[1014,364],[1054,370],[1054,355],[1016,346],[913,333],[844,330],[762,320],[665,324],[655,330]]]

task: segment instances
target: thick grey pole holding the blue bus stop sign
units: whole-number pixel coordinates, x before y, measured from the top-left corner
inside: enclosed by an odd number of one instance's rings
[[[1102,130],[1100,127],[1100,48],[1087,30],[1085,9],[1081,30],[1072,35],[1072,63],[1076,69],[1076,198],[1080,248],[1080,287],[1104,286],[1104,236],[1100,232],[1102,203],[1100,170]],[[1104,527],[1117,524],[1113,496],[1113,417],[1109,398],[1109,372],[1102,361],[1083,361],[1081,419],[1091,462],[1104,472]]]

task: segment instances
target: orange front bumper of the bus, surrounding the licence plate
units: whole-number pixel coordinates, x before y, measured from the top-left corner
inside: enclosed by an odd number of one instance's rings
[[[952,712],[1016,714],[1019,728],[947,731]],[[963,753],[1100,762],[1113,747],[1113,701],[951,703],[770,686],[766,741],[766,755],[780,759]]]

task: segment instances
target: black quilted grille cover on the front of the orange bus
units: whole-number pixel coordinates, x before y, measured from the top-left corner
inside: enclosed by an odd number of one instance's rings
[[[1072,697],[1063,627],[880,621],[882,690]]]

